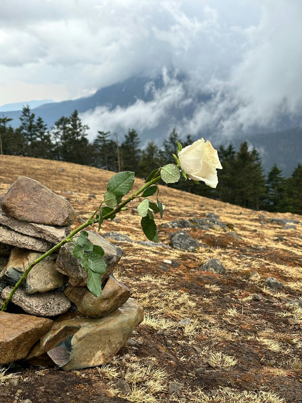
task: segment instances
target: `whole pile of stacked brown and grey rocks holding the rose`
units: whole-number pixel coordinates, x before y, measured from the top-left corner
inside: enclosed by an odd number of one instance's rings
[[[19,177],[0,209],[0,295],[2,303],[29,264],[70,233],[76,214],[70,203],[41,183]],[[0,365],[26,359],[33,365],[74,370],[105,364],[143,320],[131,290],[114,278],[122,249],[94,231],[88,239],[105,251],[102,294],[87,289],[87,272],[69,242],[29,272],[0,312]],[[20,310],[20,308],[18,308]],[[50,319],[55,317],[53,319]]]

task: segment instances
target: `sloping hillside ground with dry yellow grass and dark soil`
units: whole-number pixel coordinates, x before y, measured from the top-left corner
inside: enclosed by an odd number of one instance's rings
[[[75,228],[97,208],[112,174],[66,162],[0,156],[0,195],[19,175],[36,179],[74,206]],[[138,180],[134,187],[142,184]],[[302,217],[247,210],[165,186],[159,199],[166,209],[156,222],[159,241],[166,245],[177,230],[161,223],[176,218],[214,213],[229,229],[186,229],[207,245],[194,253],[119,243],[124,253],[116,277],[132,287],[132,297],[145,311],[131,340],[101,367],[64,372],[17,362],[2,368],[0,403],[302,402],[302,306],[287,305],[302,299],[302,225],[283,229],[269,221]],[[120,222],[104,222],[100,233],[146,240],[134,210],[117,217]],[[226,273],[201,270],[209,258],[219,259]],[[249,278],[254,271],[259,280]],[[282,290],[265,285],[270,276],[283,283]],[[11,373],[18,374],[6,378]],[[130,386],[126,397],[116,386],[121,380]]]

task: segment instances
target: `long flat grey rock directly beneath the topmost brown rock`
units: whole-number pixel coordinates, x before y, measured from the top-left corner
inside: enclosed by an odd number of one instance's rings
[[[70,233],[70,226],[59,227],[16,220],[16,218],[9,217],[2,210],[0,210],[0,224],[21,234],[46,239],[51,243],[59,243]]]

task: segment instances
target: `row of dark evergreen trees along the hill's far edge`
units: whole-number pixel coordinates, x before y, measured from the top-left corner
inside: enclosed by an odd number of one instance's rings
[[[50,130],[28,105],[23,107],[19,127],[14,129],[11,120],[6,116],[0,118],[0,154],[74,162],[114,172],[131,170],[137,177],[146,178],[153,169],[174,163],[172,153],[177,153],[179,135],[175,129],[161,146],[149,141],[141,149],[141,140],[134,129],[128,130],[122,142],[116,134],[104,131],[98,131],[93,142],[89,142],[89,127],[82,123],[77,110],[68,117],[62,116]],[[181,141],[182,146],[193,141],[188,134]],[[277,164],[265,176],[259,153],[250,149],[247,141],[240,144],[237,152],[232,143],[221,145],[218,154],[223,170],[218,171],[217,189],[184,179],[171,186],[254,210],[302,214],[300,164],[290,178],[283,177]]]

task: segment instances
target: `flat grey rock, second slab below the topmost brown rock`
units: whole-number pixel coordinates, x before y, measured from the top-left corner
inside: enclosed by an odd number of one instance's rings
[[[39,252],[47,252],[54,246],[54,243],[21,234],[4,225],[0,225],[0,243]]]

